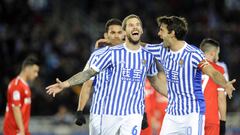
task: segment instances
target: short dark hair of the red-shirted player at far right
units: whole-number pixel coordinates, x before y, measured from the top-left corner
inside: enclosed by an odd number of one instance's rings
[[[203,52],[209,51],[212,47],[218,48],[220,46],[219,42],[212,38],[205,38],[200,44],[200,49]]]

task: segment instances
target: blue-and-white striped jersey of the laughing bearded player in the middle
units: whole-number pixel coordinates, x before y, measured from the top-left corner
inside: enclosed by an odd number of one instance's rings
[[[154,56],[144,48],[129,50],[125,44],[111,47],[91,65],[96,71],[111,68],[104,114],[129,115],[144,112],[146,75],[157,74]]]

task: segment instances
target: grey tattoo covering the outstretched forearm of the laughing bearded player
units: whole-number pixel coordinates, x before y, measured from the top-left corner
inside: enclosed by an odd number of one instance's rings
[[[75,74],[74,76],[69,78],[67,81],[70,84],[70,86],[82,84],[96,74],[97,72],[95,70],[93,70],[92,68],[89,68],[85,71]]]

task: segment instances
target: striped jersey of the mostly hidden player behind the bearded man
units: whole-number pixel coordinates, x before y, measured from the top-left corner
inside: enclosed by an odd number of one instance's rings
[[[109,49],[108,46],[95,50],[86,66],[85,69],[88,69],[90,65],[92,65],[101,55],[104,55],[105,52]],[[107,87],[109,83],[109,78],[111,76],[110,68],[107,68],[97,74],[95,77],[92,77],[93,80],[93,97],[92,97],[92,104],[90,108],[90,113],[93,114],[102,114],[103,107],[104,107],[104,97],[106,97]]]

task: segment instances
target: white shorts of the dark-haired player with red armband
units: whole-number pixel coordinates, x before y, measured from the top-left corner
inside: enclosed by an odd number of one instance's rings
[[[174,116],[166,114],[160,135],[204,135],[205,115],[190,113]]]

